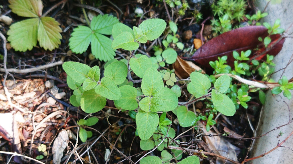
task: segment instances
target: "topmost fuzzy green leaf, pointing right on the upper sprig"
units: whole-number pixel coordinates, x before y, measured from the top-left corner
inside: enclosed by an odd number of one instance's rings
[[[159,36],[161,36],[161,34],[166,28],[166,25],[167,24],[165,20],[149,19],[149,20],[143,21],[139,25],[139,29],[142,30],[142,33],[147,37],[147,40],[152,41],[157,39]]]

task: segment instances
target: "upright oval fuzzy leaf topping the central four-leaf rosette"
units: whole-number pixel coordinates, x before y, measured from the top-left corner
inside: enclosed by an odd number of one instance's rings
[[[163,86],[160,73],[153,67],[149,68],[142,78],[142,93],[147,96],[160,96]]]

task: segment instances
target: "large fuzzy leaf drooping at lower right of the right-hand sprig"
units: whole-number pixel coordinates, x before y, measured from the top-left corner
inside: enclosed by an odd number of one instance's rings
[[[214,109],[221,112],[225,116],[233,116],[236,112],[236,108],[232,100],[223,93],[216,93],[212,90],[212,100],[214,104]]]

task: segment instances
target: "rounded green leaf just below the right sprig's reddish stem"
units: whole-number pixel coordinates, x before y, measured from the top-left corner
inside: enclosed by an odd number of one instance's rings
[[[188,111],[185,106],[177,109],[177,118],[180,126],[188,127],[195,123],[196,115],[192,111]]]

